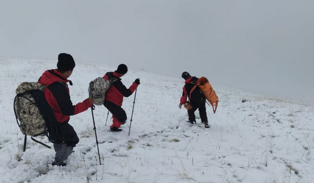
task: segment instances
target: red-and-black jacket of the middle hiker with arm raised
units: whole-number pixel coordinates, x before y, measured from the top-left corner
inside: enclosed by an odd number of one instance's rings
[[[138,87],[138,84],[133,82],[132,85],[130,86],[130,88],[128,89],[127,87],[125,87],[122,82],[121,82],[121,78],[119,76],[118,73],[114,72],[107,72],[103,78],[109,80],[113,77],[116,77],[117,80],[114,81],[113,83],[111,83],[106,96],[105,96],[105,100],[106,101],[110,101],[112,103],[114,103],[117,106],[122,106],[122,102],[123,102],[123,97],[129,97],[133,94],[133,92],[135,91],[135,89]]]

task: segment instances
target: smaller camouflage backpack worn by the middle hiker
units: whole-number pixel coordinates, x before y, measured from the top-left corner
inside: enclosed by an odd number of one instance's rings
[[[97,77],[89,83],[88,94],[90,97],[94,98],[95,105],[103,105],[107,90],[109,89],[110,85],[116,80],[118,80],[117,77],[112,77],[109,80],[103,77]]]

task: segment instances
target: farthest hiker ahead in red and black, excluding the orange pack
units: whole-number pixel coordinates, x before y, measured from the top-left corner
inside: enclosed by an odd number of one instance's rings
[[[189,74],[189,72],[183,72],[181,76],[183,79],[185,79],[185,85],[183,86],[183,94],[180,99],[179,108],[181,109],[183,103],[186,102],[187,96],[189,96],[189,100],[190,100],[190,103],[192,104],[192,108],[187,110],[187,114],[189,115],[188,122],[192,124],[196,123],[194,113],[197,109],[199,109],[202,123],[204,123],[205,125],[208,125],[208,119],[207,119],[206,107],[205,107],[205,104],[206,104],[205,96],[203,95],[199,86],[197,86],[194,89],[194,91],[191,93],[191,89],[193,88],[193,86],[195,86],[199,78],[195,76],[192,77]]]

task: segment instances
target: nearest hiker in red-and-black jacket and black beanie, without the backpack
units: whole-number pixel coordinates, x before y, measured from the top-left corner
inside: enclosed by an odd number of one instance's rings
[[[58,55],[57,69],[46,70],[39,78],[38,83],[46,85],[44,94],[47,103],[53,110],[58,126],[63,136],[62,142],[53,143],[55,159],[52,165],[65,166],[65,160],[73,151],[73,147],[79,143],[79,137],[74,128],[69,124],[70,116],[82,113],[94,104],[94,99],[85,99],[83,102],[73,105],[67,82],[75,67],[75,61],[70,54]]]

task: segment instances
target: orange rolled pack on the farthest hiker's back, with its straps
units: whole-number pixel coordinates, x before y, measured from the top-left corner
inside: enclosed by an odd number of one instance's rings
[[[194,82],[194,84],[195,84],[195,82]],[[205,98],[212,105],[213,111],[215,114],[216,110],[217,110],[217,106],[218,106],[218,97],[217,97],[212,85],[209,83],[208,79],[206,77],[201,77],[197,80],[195,86],[193,86],[193,88],[191,89],[190,100],[191,100],[191,94],[194,91],[194,89],[196,88],[196,86],[199,86],[199,88],[201,89]]]

